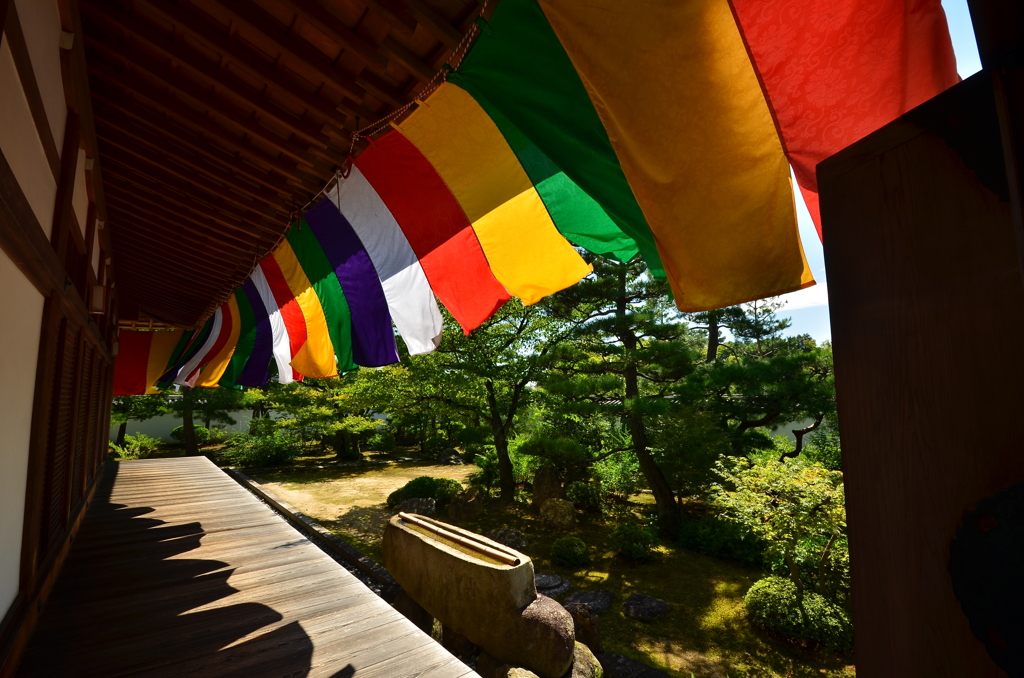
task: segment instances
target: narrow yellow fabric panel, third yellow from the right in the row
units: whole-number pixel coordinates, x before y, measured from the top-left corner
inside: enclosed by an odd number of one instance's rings
[[[287,240],[282,241],[281,246],[274,250],[273,258],[281,266],[281,272],[285,274],[288,287],[295,295],[302,316],[306,321],[306,343],[302,344],[302,348],[292,358],[292,367],[306,377],[315,379],[337,377],[338,366],[334,357],[334,344],[331,343],[331,335],[327,329],[324,307],[321,306],[316,291],[306,278],[295,251]]]

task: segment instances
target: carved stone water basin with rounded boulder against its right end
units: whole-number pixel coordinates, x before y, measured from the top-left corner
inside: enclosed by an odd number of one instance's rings
[[[487,559],[394,516],[384,531],[384,565],[395,581],[445,628],[499,662],[541,678],[561,678],[572,663],[572,618],[537,594],[529,557],[455,525],[426,520],[513,554],[520,563]]]

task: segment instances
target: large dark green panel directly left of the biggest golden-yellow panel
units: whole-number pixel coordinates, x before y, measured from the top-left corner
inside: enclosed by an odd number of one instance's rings
[[[537,144],[636,242],[650,272],[665,278],[654,237],[608,133],[537,0],[502,0],[449,79]]]

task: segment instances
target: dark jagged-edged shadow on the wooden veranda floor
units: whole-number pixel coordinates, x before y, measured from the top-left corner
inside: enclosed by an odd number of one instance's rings
[[[313,645],[298,623],[243,640],[283,620],[271,607],[190,611],[236,593],[233,570],[180,557],[199,548],[199,522],[111,503],[116,474],[104,470],[17,676],[306,676]]]

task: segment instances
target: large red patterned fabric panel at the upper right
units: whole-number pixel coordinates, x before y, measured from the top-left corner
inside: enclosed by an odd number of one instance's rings
[[[940,0],[731,0],[821,236],[815,167],[959,81]]]

